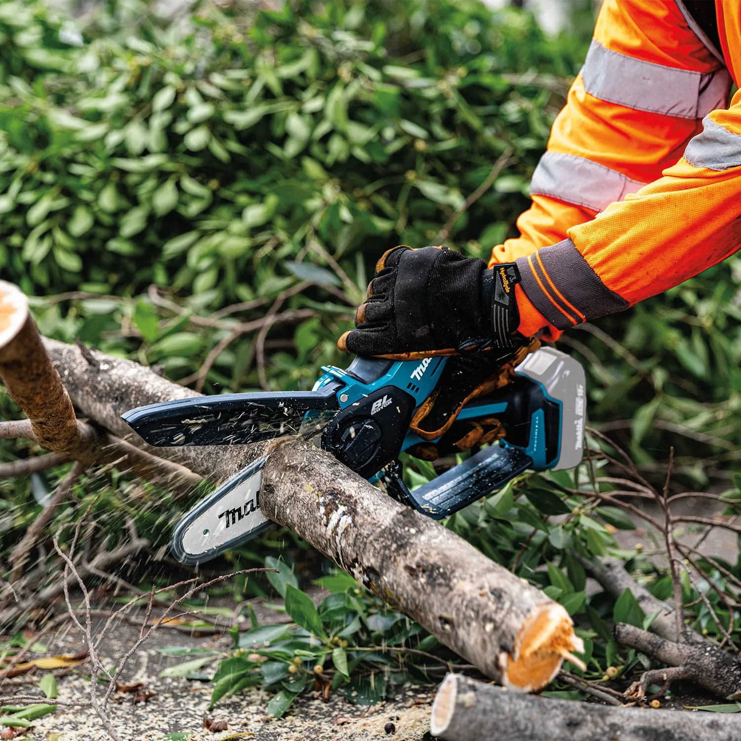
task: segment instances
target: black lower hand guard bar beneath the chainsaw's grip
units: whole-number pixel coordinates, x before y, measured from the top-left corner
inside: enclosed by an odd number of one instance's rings
[[[387,466],[380,479],[394,499],[432,519],[443,519],[502,488],[532,465],[533,459],[519,448],[492,445],[414,491],[402,481],[401,467],[396,462]]]

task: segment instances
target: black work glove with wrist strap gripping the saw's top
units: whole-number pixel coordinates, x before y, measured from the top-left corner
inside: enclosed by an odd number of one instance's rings
[[[487,270],[448,247],[393,247],[376,265],[356,329],[340,350],[394,360],[494,350],[503,358],[528,344],[517,333],[514,263]]]

